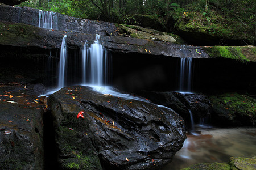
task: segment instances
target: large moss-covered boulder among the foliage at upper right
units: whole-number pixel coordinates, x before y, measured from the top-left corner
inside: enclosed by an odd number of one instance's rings
[[[180,35],[196,45],[242,45],[245,42],[253,44],[255,40],[244,25],[215,10],[204,12],[204,15],[203,12],[188,10],[185,15],[174,15],[174,18]],[[234,25],[241,25],[242,29]]]

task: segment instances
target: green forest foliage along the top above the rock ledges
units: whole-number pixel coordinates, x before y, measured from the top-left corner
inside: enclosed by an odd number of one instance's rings
[[[205,0],[27,0],[19,6],[123,24],[130,20],[140,24],[130,15],[150,15],[162,20],[160,23],[164,27],[168,26],[168,19],[172,17],[176,27],[183,25],[187,27],[185,29],[225,38],[236,39],[239,36],[247,44],[255,41],[254,0],[210,0],[207,11]]]

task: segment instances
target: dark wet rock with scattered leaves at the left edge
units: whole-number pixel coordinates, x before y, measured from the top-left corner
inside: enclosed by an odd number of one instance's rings
[[[32,91],[23,85],[0,87],[0,169],[44,167],[43,105]]]

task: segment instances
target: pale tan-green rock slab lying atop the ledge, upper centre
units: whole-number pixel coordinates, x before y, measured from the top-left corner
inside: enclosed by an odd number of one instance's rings
[[[137,39],[164,41],[175,44],[187,44],[181,37],[172,33],[156,31],[150,28],[143,28],[137,25],[117,24],[117,27],[122,30],[123,36],[130,36]]]

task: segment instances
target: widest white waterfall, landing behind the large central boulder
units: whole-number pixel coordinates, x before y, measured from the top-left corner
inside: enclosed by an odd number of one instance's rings
[[[94,43],[82,49],[82,84],[103,85],[108,82],[110,56],[100,44],[100,35],[96,35]]]

